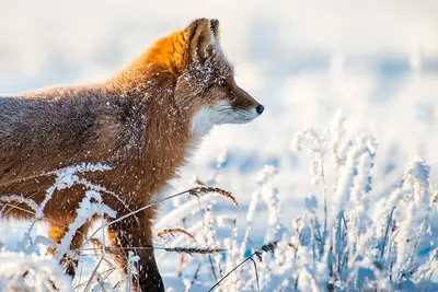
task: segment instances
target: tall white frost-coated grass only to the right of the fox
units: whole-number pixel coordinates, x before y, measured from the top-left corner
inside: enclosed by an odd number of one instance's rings
[[[379,178],[373,179],[372,167],[377,143],[368,135],[345,137],[341,113],[323,133],[313,129],[297,132],[291,149],[304,145],[312,157],[311,183],[319,185],[320,191],[306,198],[302,214],[289,224],[280,223],[278,192],[272,183],[276,172],[269,165],[260,172],[244,224],[238,224],[232,215],[214,215],[214,206],[207,207],[204,223],[195,220],[191,225],[184,217],[198,243],[227,249],[223,256],[201,261],[193,279],[186,279],[186,289],[206,290],[224,276],[218,285],[224,291],[437,289],[430,281],[438,249],[429,222],[437,214],[437,191],[426,162],[415,159],[401,182],[390,182],[388,191],[376,196],[372,185]],[[327,173],[334,177],[332,184]],[[263,244],[254,245],[252,226],[261,207],[268,215],[263,222]],[[229,234],[221,232],[226,225]],[[254,261],[246,260],[249,255]],[[234,270],[244,261],[245,266]],[[203,267],[205,278],[199,275]]]

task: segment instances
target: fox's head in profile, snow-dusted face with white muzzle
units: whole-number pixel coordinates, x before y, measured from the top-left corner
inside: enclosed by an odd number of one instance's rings
[[[161,38],[146,62],[157,75],[172,75],[175,103],[188,112],[193,135],[205,135],[215,125],[249,122],[264,110],[235,83],[234,69],[220,46],[217,20],[198,19]]]

